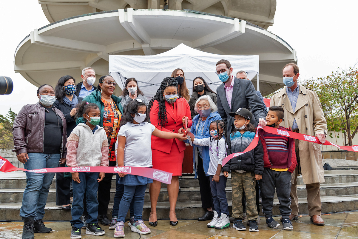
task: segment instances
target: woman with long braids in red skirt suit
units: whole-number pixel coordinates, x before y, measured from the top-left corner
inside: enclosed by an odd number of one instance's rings
[[[188,127],[192,125],[190,107],[185,98],[178,96],[178,82],[174,77],[166,77],[149,102],[150,122],[161,131],[178,132],[183,127],[185,117]],[[169,195],[170,225],[178,224],[175,214],[176,200],[179,192],[179,175],[182,175],[185,143],[177,139],[163,139],[152,136],[153,168],[173,173],[171,183],[167,185]],[[161,182],[153,180],[149,185],[151,211],[149,224],[157,225],[156,205],[160,193]]]

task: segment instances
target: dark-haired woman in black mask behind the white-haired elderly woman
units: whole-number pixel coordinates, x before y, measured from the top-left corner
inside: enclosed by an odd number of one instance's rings
[[[195,103],[201,96],[210,96],[213,100],[214,104],[216,103],[216,93],[210,89],[208,84],[205,82],[203,77],[195,77],[193,81],[193,94],[190,97],[189,100],[189,106],[190,106],[190,112],[192,112],[192,118],[198,114],[197,111],[195,111]]]

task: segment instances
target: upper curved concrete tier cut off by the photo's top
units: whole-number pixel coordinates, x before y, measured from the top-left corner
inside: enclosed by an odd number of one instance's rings
[[[274,23],[276,0],[169,0],[171,10],[192,9],[239,18],[267,29]],[[164,9],[164,0],[39,0],[50,23],[72,16],[117,9]]]

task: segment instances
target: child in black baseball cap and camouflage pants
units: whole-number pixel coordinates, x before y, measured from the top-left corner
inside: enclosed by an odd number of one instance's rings
[[[231,112],[230,116],[235,118],[235,129],[230,134],[231,152],[243,152],[256,136],[256,129],[250,123],[252,113],[246,108],[239,108],[236,112]],[[263,175],[263,148],[260,140],[253,150],[232,158],[221,169],[226,177],[230,170],[233,228],[239,231],[246,230],[242,223],[243,208],[241,203],[242,194],[245,193],[249,231],[258,231],[255,180],[262,179]]]

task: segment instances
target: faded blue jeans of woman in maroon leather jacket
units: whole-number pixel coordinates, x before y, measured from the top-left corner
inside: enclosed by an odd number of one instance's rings
[[[24,164],[24,168],[44,169],[56,168],[60,161],[59,153],[28,153],[29,159]],[[47,201],[48,189],[52,184],[54,172],[26,173],[26,187],[23,194],[23,202],[20,208],[22,220],[25,218],[34,218],[34,220],[43,219],[45,215],[45,205]]]

